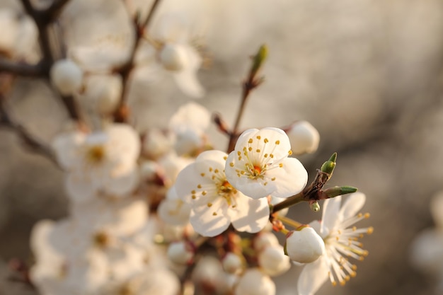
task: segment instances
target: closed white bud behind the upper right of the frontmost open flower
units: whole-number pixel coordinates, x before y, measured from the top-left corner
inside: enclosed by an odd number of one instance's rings
[[[311,154],[318,149],[320,134],[307,121],[295,122],[287,132],[287,136],[291,141],[292,152],[296,155]]]

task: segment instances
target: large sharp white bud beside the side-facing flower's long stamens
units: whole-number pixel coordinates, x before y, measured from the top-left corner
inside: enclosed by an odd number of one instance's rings
[[[291,260],[310,263],[325,253],[325,243],[313,228],[305,227],[288,234],[284,250]]]

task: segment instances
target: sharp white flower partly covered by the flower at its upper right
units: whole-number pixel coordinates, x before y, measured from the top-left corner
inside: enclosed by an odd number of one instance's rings
[[[232,187],[224,174],[226,158],[222,151],[205,151],[176,180],[177,195],[190,204],[190,223],[202,236],[217,236],[231,223],[249,233],[267,224],[267,199],[252,199]]]

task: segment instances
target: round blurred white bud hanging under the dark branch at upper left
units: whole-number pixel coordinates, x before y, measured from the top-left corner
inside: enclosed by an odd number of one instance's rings
[[[69,96],[80,89],[83,71],[70,59],[60,59],[52,65],[50,78],[60,93]]]

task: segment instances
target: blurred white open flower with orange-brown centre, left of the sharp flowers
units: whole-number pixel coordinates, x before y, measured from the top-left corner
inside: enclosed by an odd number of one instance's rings
[[[137,185],[136,161],[140,143],[129,125],[114,124],[100,132],[61,134],[54,149],[68,170],[67,192],[84,202],[103,192],[120,197]]]

